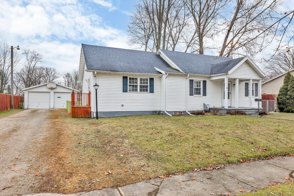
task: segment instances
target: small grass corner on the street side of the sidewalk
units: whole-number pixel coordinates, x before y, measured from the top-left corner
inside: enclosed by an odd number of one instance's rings
[[[242,194],[242,196],[291,196],[294,195],[294,182],[288,182],[274,187],[266,188],[254,193]]]

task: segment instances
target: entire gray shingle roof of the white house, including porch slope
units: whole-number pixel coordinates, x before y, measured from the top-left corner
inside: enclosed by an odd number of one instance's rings
[[[166,72],[180,73],[171,68],[155,52],[110,48],[82,44],[86,69],[131,73],[158,73],[154,67]],[[161,50],[184,73],[214,75],[227,73],[245,57],[228,58],[178,51]]]

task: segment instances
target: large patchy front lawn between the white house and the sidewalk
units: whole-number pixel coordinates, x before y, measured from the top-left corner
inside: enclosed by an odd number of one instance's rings
[[[44,174],[43,191],[117,187],[210,164],[294,153],[293,121],[212,115],[96,120],[54,112],[58,116],[54,126],[65,131],[53,145],[64,146],[53,151],[52,165],[58,167]]]

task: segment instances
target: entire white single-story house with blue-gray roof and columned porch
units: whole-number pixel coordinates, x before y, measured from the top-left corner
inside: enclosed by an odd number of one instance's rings
[[[91,91],[91,112],[123,116],[203,110],[258,109],[265,74],[248,58],[159,50],[158,53],[82,44],[79,82]],[[94,92],[94,93],[93,93]]]

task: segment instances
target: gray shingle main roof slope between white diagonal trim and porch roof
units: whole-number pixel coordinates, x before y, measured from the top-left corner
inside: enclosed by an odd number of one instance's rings
[[[228,57],[209,56],[169,50],[161,51],[185,73],[210,75],[212,65],[232,60],[232,58]]]

